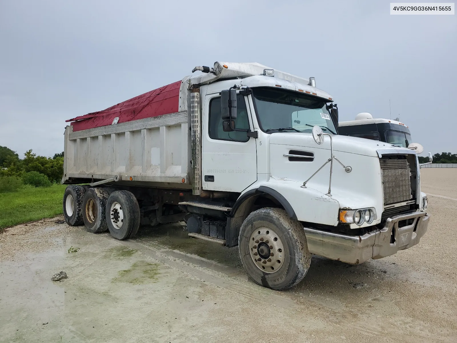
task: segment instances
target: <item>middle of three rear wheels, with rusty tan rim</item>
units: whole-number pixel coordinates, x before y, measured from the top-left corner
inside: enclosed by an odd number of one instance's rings
[[[89,188],[83,200],[83,220],[86,230],[100,233],[108,230],[106,226],[106,200],[108,193],[103,188]]]

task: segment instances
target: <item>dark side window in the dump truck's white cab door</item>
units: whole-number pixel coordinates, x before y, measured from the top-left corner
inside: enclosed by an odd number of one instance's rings
[[[249,129],[248,110],[244,96],[237,94],[237,117],[235,119],[235,129]],[[212,139],[233,140],[237,142],[247,142],[249,137],[246,132],[231,131],[225,132],[222,127],[221,118],[221,97],[211,100],[209,103],[209,136]]]

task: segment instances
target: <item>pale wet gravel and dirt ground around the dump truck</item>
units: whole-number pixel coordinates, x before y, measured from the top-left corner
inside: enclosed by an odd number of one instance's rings
[[[437,196],[419,245],[358,266],[313,256],[283,292],[181,224],[122,242],[56,218],[9,228],[0,342],[457,342],[457,170],[422,171]]]

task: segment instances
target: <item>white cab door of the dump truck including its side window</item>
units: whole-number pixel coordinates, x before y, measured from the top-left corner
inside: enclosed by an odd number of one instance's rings
[[[255,138],[246,132],[224,132],[221,96],[209,94],[203,103],[202,184],[204,190],[242,192],[257,180]],[[237,94],[236,129],[253,130],[247,97]]]

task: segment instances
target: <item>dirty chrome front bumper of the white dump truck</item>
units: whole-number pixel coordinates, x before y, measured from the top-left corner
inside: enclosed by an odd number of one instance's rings
[[[312,254],[359,264],[416,245],[427,232],[429,218],[425,212],[396,215],[388,218],[383,229],[363,236],[346,236],[306,227],[304,230]]]

